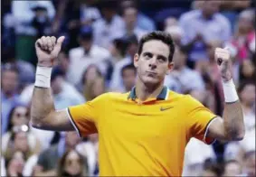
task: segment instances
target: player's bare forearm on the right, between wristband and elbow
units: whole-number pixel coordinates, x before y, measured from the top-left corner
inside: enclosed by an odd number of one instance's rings
[[[223,124],[227,139],[242,140],[245,130],[242,105],[239,100],[234,103],[225,103]]]

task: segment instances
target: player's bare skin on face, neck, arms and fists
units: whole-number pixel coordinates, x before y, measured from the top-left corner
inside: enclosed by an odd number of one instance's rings
[[[36,42],[35,48],[39,66],[52,67],[52,60],[57,58],[63,40],[64,37],[60,37],[56,42],[55,37],[43,36]],[[37,43],[40,43],[41,47]],[[140,54],[135,54],[134,65],[137,68],[136,93],[138,100],[156,98],[163,89],[166,74],[174,68],[173,62],[167,60],[169,52],[166,43],[151,40],[144,43]],[[227,49],[217,48],[215,59],[216,61],[222,59],[219,69],[223,81],[227,82],[232,79],[230,52]],[[32,125],[36,128],[54,131],[74,130],[67,112],[64,110],[55,111],[51,89],[34,88],[31,117]],[[244,124],[240,101],[225,103],[223,118],[216,118],[208,130],[207,136],[219,140],[242,140]]]

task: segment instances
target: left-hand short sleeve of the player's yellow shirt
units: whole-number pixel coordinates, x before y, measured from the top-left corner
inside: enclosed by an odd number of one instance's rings
[[[84,104],[67,108],[71,123],[81,137],[98,133],[96,125],[103,99],[103,96],[99,96]]]

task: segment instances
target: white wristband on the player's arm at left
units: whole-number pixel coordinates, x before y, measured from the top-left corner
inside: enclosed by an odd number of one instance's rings
[[[41,88],[51,88],[52,68],[37,66],[34,86]]]

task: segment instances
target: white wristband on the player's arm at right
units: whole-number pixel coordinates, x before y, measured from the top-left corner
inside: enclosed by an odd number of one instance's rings
[[[239,99],[232,79],[227,82],[223,82],[223,92],[226,103],[232,103]]]

